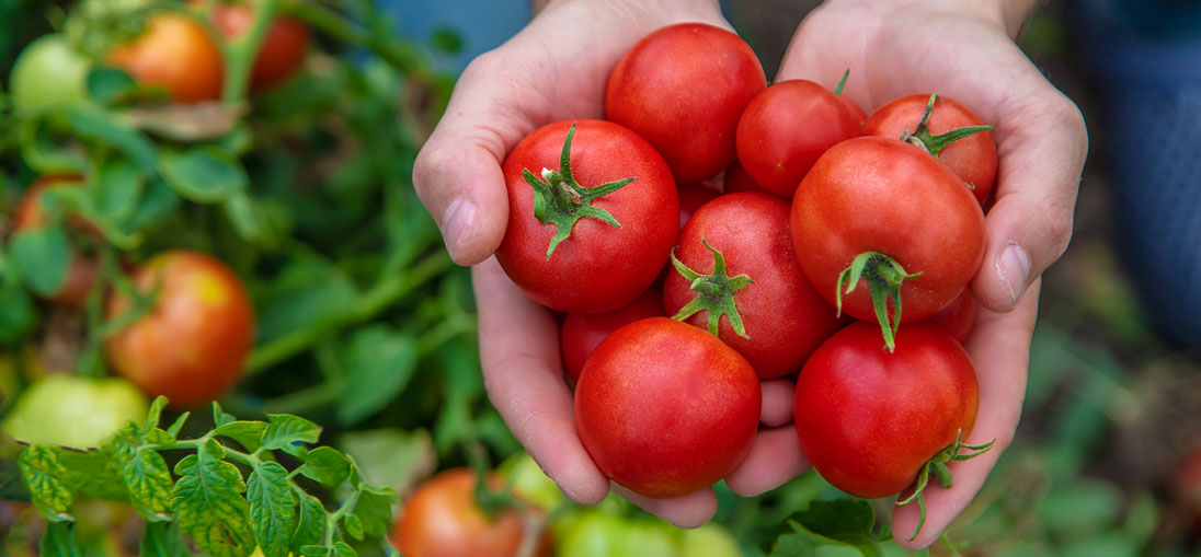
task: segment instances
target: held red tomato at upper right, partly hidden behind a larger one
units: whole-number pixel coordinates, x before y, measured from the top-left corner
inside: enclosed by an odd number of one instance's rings
[[[937,140],[938,134],[961,127],[982,126],[985,121],[954,98],[942,95],[938,98],[928,124],[930,133],[936,140],[927,139],[927,146],[932,148],[946,168],[972,185],[972,193],[984,205],[997,181],[997,144],[993,143],[991,132],[982,131],[942,146]],[[872,113],[864,122],[864,134],[900,139],[906,131],[915,132],[928,102],[928,94],[897,98]]]

